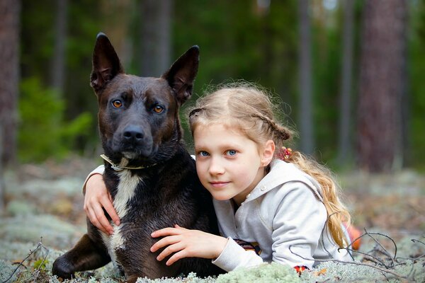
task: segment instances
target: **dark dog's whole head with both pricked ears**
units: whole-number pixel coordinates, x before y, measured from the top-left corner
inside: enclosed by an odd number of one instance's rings
[[[192,94],[198,62],[194,46],[159,78],[125,74],[108,37],[99,33],[90,85],[105,154],[141,165],[172,156],[181,139],[179,107]]]

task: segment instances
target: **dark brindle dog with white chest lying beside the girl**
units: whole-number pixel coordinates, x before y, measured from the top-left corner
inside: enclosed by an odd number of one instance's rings
[[[98,127],[105,159],[103,179],[120,225],[112,236],[87,219],[87,233],[53,263],[62,279],[113,260],[127,282],[137,277],[176,277],[188,272],[217,275],[211,260],[185,258],[166,266],[149,248],[153,231],[179,226],[218,234],[212,198],[201,185],[182,141],[180,106],[190,98],[199,48],[191,47],[161,77],[125,74],[113,45],[99,33],[91,87],[98,98]]]

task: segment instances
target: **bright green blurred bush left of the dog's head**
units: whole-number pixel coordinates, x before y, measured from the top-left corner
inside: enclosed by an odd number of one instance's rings
[[[81,113],[71,122],[64,121],[64,100],[59,93],[43,88],[36,78],[21,82],[18,149],[21,161],[63,158],[78,137],[89,134],[92,118]]]

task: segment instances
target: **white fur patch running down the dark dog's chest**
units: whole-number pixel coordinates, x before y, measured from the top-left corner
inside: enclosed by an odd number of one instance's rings
[[[120,178],[120,183],[118,185],[118,190],[117,194],[115,195],[115,199],[113,200],[113,206],[115,207],[115,211],[117,212],[120,219],[123,219],[123,217],[128,212],[127,203],[135,195],[136,186],[142,181],[142,178],[137,175],[132,175],[130,170],[119,171],[116,172],[116,174]],[[122,226],[116,226],[113,223],[111,223],[111,225],[113,226],[113,234],[111,236],[108,236],[105,233],[102,233],[102,238],[103,243],[105,243],[106,248],[108,248],[111,260],[115,262],[115,250],[117,248],[125,249],[125,241],[120,233]]]

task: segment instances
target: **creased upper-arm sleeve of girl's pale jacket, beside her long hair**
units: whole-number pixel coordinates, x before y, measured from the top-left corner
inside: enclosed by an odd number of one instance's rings
[[[326,208],[304,183],[286,183],[280,190],[285,197],[273,217],[273,261],[311,269],[327,221]]]

